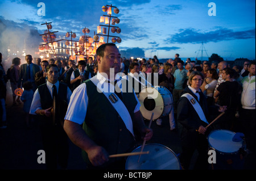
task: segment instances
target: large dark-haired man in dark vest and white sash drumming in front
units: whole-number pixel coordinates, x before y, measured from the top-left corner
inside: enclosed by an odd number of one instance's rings
[[[96,54],[98,73],[73,92],[64,129],[82,149],[88,169],[124,169],[123,157],[109,158],[109,155],[134,149],[134,128],[146,141],[152,137],[152,130],[143,122],[134,92],[123,91],[119,77],[114,86],[112,73],[118,73],[121,59],[118,48],[112,43],[102,44]]]

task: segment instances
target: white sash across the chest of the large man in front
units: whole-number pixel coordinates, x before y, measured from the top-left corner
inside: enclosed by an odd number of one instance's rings
[[[97,79],[97,76],[94,76],[93,78],[90,78],[90,81],[92,81],[94,83],[94,85],[97,86],[97,90],[99,92],[102,92],[106,98],[109,100],[109,102],[112,104],[112,106],[114,107],[114,109],[117,111],[117,113],[119,114],[119,116],[122,118],[123,123],[125,123],[126,128],[131,132],[131,134],[133,134],[134,136],[134,132],[133,132],[133,121],[131,120],[131,116],[129,111],[127,110],[127,108],[125,107],[125,104],[123,104],[122,100],[118,100],[117,102],[113,102],[110,99],[110,96],[114,94],[115,98],[118,98],[118,96],[113,92],[109,92],[109,89],[106,89],[106,87],[109,87],[110,85],[106,82],[104,83],[100,83],[100,81]],[[104,87],[102,87],[102,85]]]

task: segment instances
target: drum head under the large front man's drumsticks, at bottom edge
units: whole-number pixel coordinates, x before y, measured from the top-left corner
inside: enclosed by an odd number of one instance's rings
[[[141,146],[133,152],[141,151]],[[126,161],[126,170],[180,170],[180,162],[174,151],[160,144],[148,144],[143,151],[148,154],[129,156]],[[138,162],[139,159],[139,162]]]

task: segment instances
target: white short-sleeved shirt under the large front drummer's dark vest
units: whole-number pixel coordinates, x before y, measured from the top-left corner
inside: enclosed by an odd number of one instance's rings
[[[96,76],[101,85],[103,85],[104,87],[110,86],[110,91],[114,90],[114,86],[111,83],[108,83],[109,79],[106,79],[99,72],[97,73]],[[118,81],[117,85],[122,91],[121,81]],[[134,112],[137,112],[139,111],[141,104],[139,103],[139,100],[135,95],[135,93],[134,93],[134,97],[137,100],[137,106],[135,107]],[[85,120],[87,105],[88,105],[88,96],[86,91],[86,83],[82,83],[73,91],[71,95],[71,100],[68,104],[68,110],[65,116],[65,120],[82,124]]]

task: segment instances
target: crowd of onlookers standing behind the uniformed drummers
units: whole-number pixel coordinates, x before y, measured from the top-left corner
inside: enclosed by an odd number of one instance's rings
[[[0,84],[1,84],[1,128],[6,128],[6,83],[10,81],[13,91],[13,106],[24,103],[23,111],[26,113],[26,124],[29,126],[29,108],[33,94],[38,86],[46,83],[46,67],[56,64],[59,69],[59,82],[67,83],[73,92],[77,86],[97,74],[97,61],[93,57],[84,60],[65,60],[50,58],[41,60],[25,57],[26,64],[21,64],[18,57],[13,58],[11,66],[3,64],[0,54]],[[138,73],[158,73],[158,86],[167,87],[174,98],[174,112],[181,93],[188,85],[188,77],[192,71],[200,71],[204,75],[201,91],[207,97],[208,106],[227,106],[229,113],[219,121],[218,127],[234,132],[244,132],[248,138],[247,148],[255,151],[255,61],[245,61],[243,67],[229,65],[226,61],[191,61],[187,58],[182,61],[179,54],[166,62],[159,62],[158,58],[121,58],[120,72],[129,74],[133,72],[134,63],[137,63]],[[27,68],[26,65],[30,65]],[[254,78],[254,82],[250,82]],[[228,82],[228,83],[224,83]],[[222,84],[224,83],[224,84]],[[254,85],[253,86],[251,86]],[[17,96],[15,90],[23,87],[22,96]],[[248,92],[249,91],[249,92]],[[254,94],[251,92],[254,91]],[[254,112],[251,112],[253,110]]]

